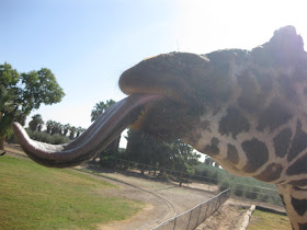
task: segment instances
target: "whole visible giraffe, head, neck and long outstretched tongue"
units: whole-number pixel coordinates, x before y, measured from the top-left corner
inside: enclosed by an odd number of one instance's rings
[[[129,95],[78,139],[50,146],[13,129],[25,152],[47,166],[98,154],[127,125],[182,139],[239,176],[273,183],[294,229],[307,229],[307,54],[294,26],[252,50],[171,53],[120,78]]]

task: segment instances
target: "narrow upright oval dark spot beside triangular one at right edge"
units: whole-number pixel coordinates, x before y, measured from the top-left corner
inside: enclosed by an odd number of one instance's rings
[[[280,158],[285,157],[288,151],[289,142],[291,142],[292,131],[289,128],[283,129],[278,135],[276,135],[273,139],[275,154]]]

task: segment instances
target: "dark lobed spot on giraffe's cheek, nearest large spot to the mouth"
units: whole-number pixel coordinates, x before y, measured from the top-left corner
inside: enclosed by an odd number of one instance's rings
[[[221,135],[231,134],[236,139],[237,135],[242,131],[248,131],[250,124],[247,118],[240,113],[238,108],[229,107],[227,115],[219,120],[218,131]]]

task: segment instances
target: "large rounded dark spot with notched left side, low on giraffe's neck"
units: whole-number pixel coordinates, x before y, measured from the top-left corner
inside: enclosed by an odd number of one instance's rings
[[[248,159],[245,172],[253,173],[269,160],[269,150],[264,142],[253,138],[243,141],[241,146]]]

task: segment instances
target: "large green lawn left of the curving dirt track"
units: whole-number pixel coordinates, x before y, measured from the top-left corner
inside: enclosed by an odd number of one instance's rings
[[[0,159],[0,229],[95,229],[123,220],[141,203],[103,195],[110,183],[32,161]]]

